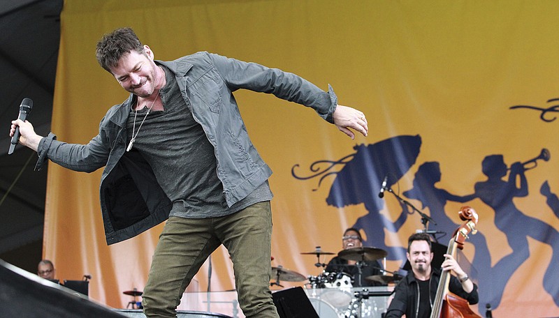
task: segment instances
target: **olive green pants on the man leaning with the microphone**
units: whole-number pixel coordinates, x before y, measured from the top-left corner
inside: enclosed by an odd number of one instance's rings
[[[143,294],[147,317],[176,317],[184,290],[212,252],[231,255],[243,314],[278,318],[270,292],[272,213],[260,202],[219,218],[170,217],[152,259]]]

